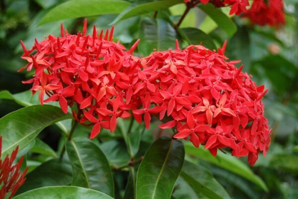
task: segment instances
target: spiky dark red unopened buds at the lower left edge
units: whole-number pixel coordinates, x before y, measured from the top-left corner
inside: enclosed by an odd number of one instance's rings
[[[18,146],[11,153],[10,158],[7,154],[3,161],[1,160],[1,149],[2,136],[0,136],[0,185],[2,186],[0,189],[0,199],[4,199],[6,194],[9,192],[10,196],[8,199],[11,199],[18,188],[25,182],[25,175],[27,173],[28,167],[26,167],[25,171],[21,174],[19,170],[23,163],[23,156],[20,158],[18,163],[13,163],[16,158]]]

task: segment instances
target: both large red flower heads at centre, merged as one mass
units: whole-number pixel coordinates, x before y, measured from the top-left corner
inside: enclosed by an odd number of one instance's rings
[[[29,63],[22,69],[35,69],[34,92],[40,101],[58,100],[63,111],[77,104],[74,118],[93,125],[90,138],[100,128],[113,132],[117,118],[131,113],[149,128],[151,116],[173,128],[174,138],[190,139],[194,146],[205,145],[213,155],[229,147],[232,155],[247,156],[253,165],[258,153],[266,154],[270,144],[268,121],[263,116],[261,98],[264,86],[257,87],[250,76],[226,62],[225,44],[219,52],[203,46],[185,50],[154,52],[149,57],[132,55],[139,41],[125,51],[112,42],[108,30],[99,36],[70,35],[62,28],[61,37],[50,35],[24,49]]]

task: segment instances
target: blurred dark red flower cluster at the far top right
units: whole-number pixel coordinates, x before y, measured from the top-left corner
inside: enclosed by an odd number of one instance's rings
[[[251,8],[243,17],[250,19],[252,24],[279,27],[285,24],[285,13],[282,0],[254,0]]]

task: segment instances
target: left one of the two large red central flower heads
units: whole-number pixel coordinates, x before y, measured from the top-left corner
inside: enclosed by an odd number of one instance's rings
[[[27,50],[21,41],[28,64],[20,69],[35,69],[32,79],[23,81],[33,84],[32,92],[39,92],[41,104],[59,101],[67,113],[68,106],[77,104],[74,118],[86,125],[94,125],[90,137],[100,132],[100,127],[116,128],[117,117],[130,116],[128,102],[139,58],[132,56],[139,41],[125,51],[119,42],[113,42],[114,27],[86,34],[86,19],[82,33],[71,35],[61,25],[61,37],[49,35],[45,40],[35,40]],[[121,83],[121,84],[120,84]],[[120,86],[119,86],[120,85]],[[44,100],[44,95],[49,98]],[[127,99],[124,101],[124,97]],[[88,123],[91,122],[91,123]]]

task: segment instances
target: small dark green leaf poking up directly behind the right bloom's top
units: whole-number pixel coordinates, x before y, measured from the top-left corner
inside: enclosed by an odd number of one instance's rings
[[[202,43],[203,46],[210,50],[216,49],[213,39],[202,30],[197,28],[182,28],[179,29],[179,33],[181,33],[182,38],[184,38],[189,45],[200,45]]]

